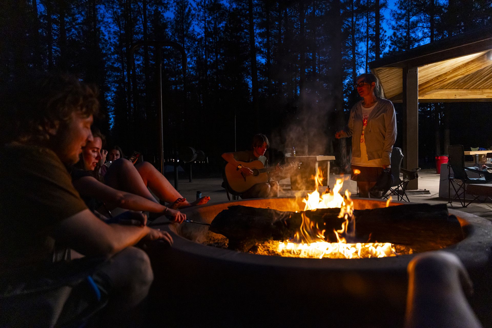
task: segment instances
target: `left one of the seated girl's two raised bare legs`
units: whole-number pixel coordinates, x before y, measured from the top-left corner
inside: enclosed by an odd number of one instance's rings
[[[104,181],[110,187],[145,197],[157,203],[135,166],[127,159],[120,158],[111,164],[104,176]]]

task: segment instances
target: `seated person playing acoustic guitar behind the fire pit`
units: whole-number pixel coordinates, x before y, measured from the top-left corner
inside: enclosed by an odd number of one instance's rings
[[[228,163],[237,167],[238,171],[243,172],[246,176],[251,176],[253,171],[251,171],[246,166],[242,166],[238,161],[241,162],[252,162],[259,160],[263,163],[265,167],[268,167],[268,159],[264,156],[265,151],[270,147],[270,142],[267,136],[264,134],[256,134],[253,137],[252,149],[245,151],[236,152],[224,152],[222,158]],[[275,172],[270,175],[269,182],[262,182],[253,185],[251,188],[243,192],[240,196],[243,199],[246,198],[267,198],[267,197],[278,197],[279,185],[278,180],[283,179],[281,176],[282,168],[277,164]]]

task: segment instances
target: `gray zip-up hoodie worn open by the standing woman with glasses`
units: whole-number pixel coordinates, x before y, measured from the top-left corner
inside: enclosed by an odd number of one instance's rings
[[[352,136],[352,156],[361,157],[362,100],[350,110],[348,124],[341,131],[342,138]],[[368,159],[383,159],[383,165],[391,164],[391,150],[397,140],[397,119],[393,103],[378,98],[376,107],[370,112],[364,131]]]

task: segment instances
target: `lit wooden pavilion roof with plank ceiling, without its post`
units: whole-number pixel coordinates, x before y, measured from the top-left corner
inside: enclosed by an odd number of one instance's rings
[[[418,67],[419,102],[492,101],[492,29],[402,51],[369,67],[393,102],[402,101],[405,67]]]

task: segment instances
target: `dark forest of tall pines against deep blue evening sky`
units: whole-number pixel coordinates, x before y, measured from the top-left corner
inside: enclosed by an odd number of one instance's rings
[[[388,3],[390,2],[390,3]],[[491,0],[4,0],[0,88],[31,70],[75,74],[101,91],[96,124],[111,145],[158,166],[155,48],[162,48],[165,160],[183,146],[220,154],[269,136],[271,156],[329,154],[346,171],[350,140],[334,138],[359,100],[368,62],[491,24]],[[29,96],[29,95],[26,95]],[[395,104],[401,131],[401,105]],[[419,165],[449,144],[489,148],[489,103],[420,103]],[[473,118],[473,119],[471,119]],[[450,132],[449,132],[450,131]],[[447,136],[449,134],[449,138]],[[401,147],[401,132],[396,146]]]

